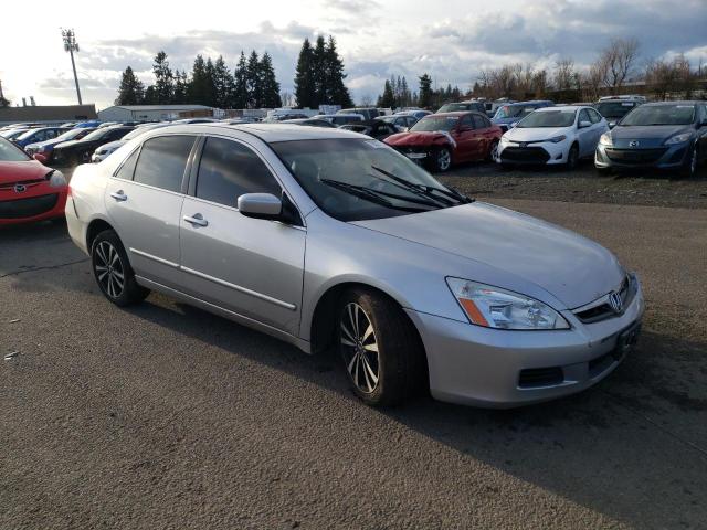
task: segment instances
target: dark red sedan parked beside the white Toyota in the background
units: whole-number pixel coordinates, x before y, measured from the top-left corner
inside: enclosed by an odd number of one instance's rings
[[[481,113],[440,113],[425,116],[408,132],[383,141],[434,171],[454,163],[495,160],[503,131]]]

